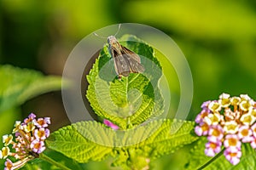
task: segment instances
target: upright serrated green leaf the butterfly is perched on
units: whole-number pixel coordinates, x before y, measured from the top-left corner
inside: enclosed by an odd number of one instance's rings
[[[113,59],[104,46],[87,76],[90,85],[86,97],[98,116],[125,129],[160,115],[164,101],[158,87],[161,67],[154,56],[154,48],[134,36],[124,36],[120,43],[141,56],[145,71],[118,80],[113,71]]]

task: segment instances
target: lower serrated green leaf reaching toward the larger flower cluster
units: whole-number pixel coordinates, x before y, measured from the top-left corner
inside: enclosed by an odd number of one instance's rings
[[[166,119],[152,122],[147,129],[149,127],[156,127],[157,130],[140,145],[149,151],[151,158],[170,154],[198,139],[191,133],[194,130],[194,122]]]

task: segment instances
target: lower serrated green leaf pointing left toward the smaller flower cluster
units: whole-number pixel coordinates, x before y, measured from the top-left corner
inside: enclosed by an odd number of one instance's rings
[[[59,151],[80,163],[101,161],[111,154],[112,148],[96,144],[90,138],[106,141],[108,144],[108,138],[113,136],[112,129],[98,131],[103,129],[101,127],[102,124],[97,122],[77,122],[52,133],[46,140],[46,144],[49,149]]]

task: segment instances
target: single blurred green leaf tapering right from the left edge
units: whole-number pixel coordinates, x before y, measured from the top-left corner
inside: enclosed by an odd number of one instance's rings
[[[41,72],[12,65],[0,65],[0,79],[0,113],[39,94],[61,89],[61,77],[45,77]]]

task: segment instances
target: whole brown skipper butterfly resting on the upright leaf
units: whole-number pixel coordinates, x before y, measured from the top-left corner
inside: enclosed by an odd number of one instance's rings
[[[138,54],[122,46],[114,36],[108,37],[108,50],[113,57],[114,70],[119,79],[128,77],[130,73],[145,71]]]

